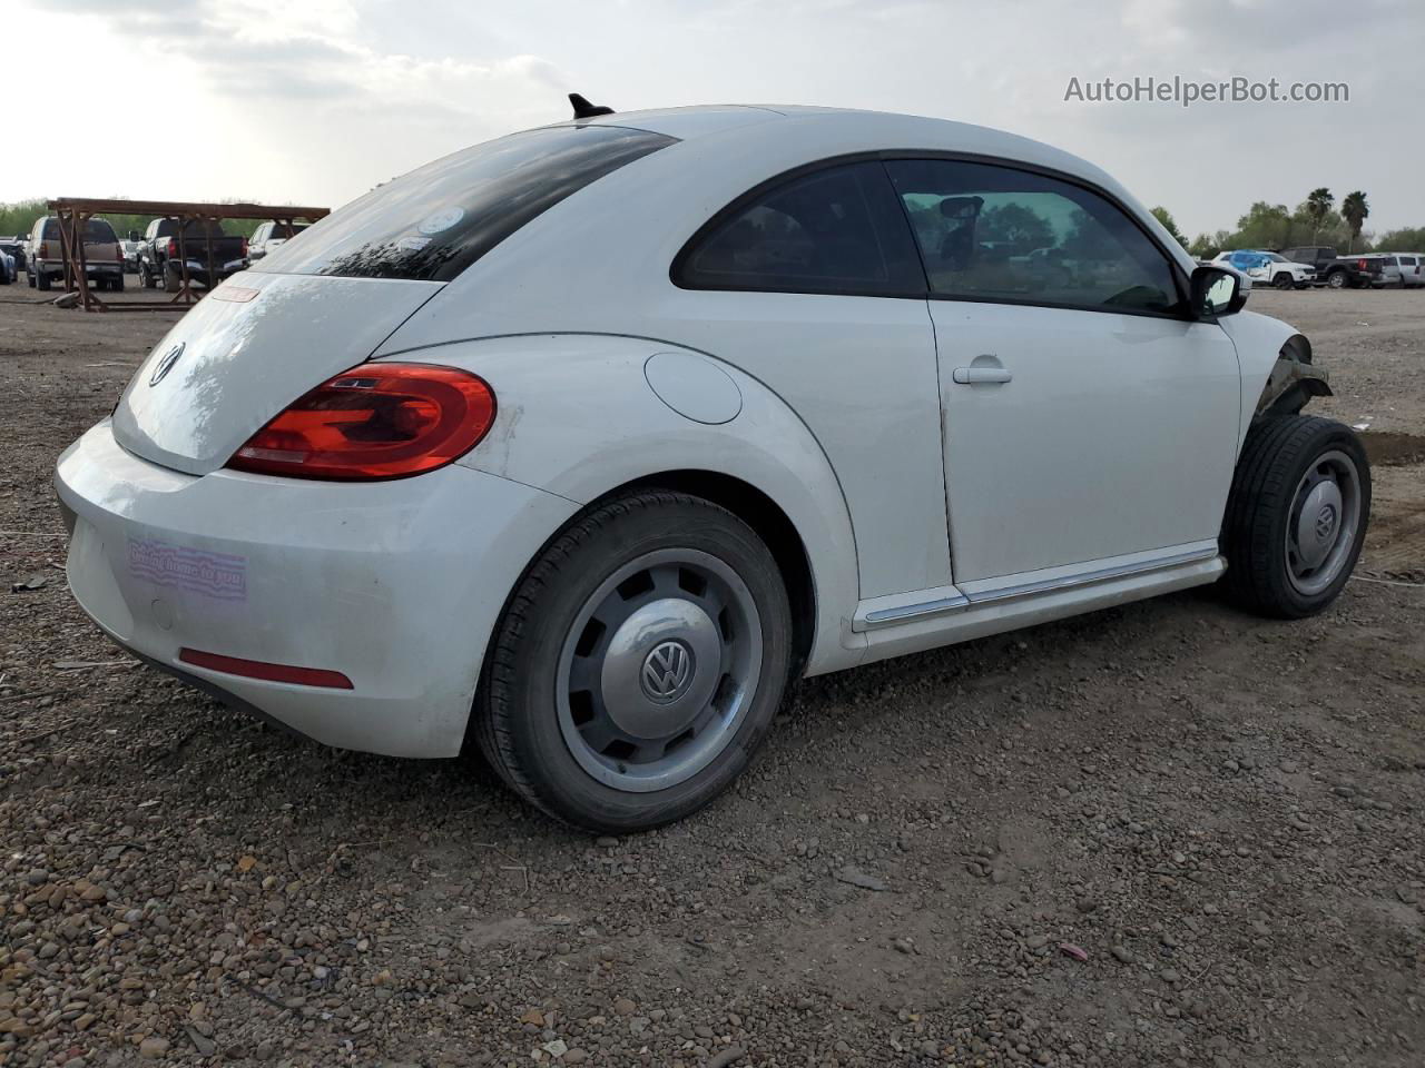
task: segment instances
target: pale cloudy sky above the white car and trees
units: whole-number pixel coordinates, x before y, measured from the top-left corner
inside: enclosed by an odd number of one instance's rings
[[[1104,167],[1188,235],[1254,199],[1425,225],[1418,0],[0,0],[0,201],[339,205],[567,115],[832,104],[999,127]],[[76,95],[66,88],[67,58]],[[1082,103],[1134,77],[1345,81],[1349,103]]]

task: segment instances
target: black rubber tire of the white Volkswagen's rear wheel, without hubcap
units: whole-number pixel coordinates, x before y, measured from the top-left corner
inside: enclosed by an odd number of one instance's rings
[[[617,789],[586,770],[566,740],[561,656],[583,641],[574,634],[581,612],[620,568],[667,553],[710,555],[744,584],[760,619],[760,674],[722,748],[690,778],[646,792]],[[647,830],[701,809],[747,768],[781,705],[791,656],[787,590],[751,527],[701,497],[636,493],[591,507],[524,574],[490,642],[475,736],[500,778],[550,816],[593,832]]]

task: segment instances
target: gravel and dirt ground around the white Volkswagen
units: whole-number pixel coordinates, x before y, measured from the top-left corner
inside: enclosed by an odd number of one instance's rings
[[[1369,424],[1387,582],[814,679],[732,793],[626,840],[110,646],[50,468],[174,316],[36,296],[0,290],[0,1064],[1425,1062],[1425,293],[1251,303]]]

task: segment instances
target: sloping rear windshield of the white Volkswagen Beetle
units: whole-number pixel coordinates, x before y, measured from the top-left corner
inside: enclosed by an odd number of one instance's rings
[[[486,141],[372,189],[254,269],[446,282],[566,197],[675,141],[604,125]]]

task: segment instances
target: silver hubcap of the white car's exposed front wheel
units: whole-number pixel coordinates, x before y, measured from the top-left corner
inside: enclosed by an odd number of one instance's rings
[[[1345,453],[1322,453],[1297,484],[1287,520],[1287,577],[1320,594],[1341,574],[1361,525],[1361,477]]]

